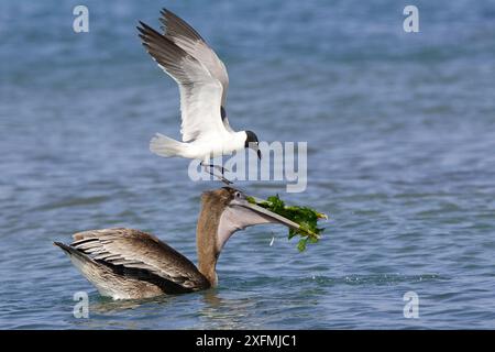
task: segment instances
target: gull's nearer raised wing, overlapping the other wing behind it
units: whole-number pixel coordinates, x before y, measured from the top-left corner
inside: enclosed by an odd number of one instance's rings
[[[143,22],[138,30],[150,55],[179,86],[183,141],[221,135],[222,84],[197,58]]]

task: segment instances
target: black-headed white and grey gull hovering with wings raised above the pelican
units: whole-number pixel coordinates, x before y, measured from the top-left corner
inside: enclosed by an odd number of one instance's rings
[[[158,33],[140,21],[140,37],[158,66],[179,86],[183,142],[157,133],[150,150],[164,157],[200,160],[206,168],[216,156],[251,147],[261,152],[252,131],[235,132],[226,112],[229,76],[223,63],[189,24],[170,11],[162,12]],[[223,167],[222,170],[223,178]]]

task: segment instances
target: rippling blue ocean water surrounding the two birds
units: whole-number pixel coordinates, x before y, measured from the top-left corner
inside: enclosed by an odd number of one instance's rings
[[[0,2],[0,328],[495,328],[494,1],[85,0],[76,34],[77,4]],[[285,229],[237,233],[216,289],[112,301],[52,241],[122,226],[196,261],[199,196],[220,186],[148,152],[179,136],[176,85],[135,30],[163,7],[228,66],[235,129],[308,142],[305,193],[240,185],[330,220],[305,253]]]

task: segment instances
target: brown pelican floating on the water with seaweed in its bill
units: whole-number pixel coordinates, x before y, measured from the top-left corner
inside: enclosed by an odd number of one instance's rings
[[[156,237],[132,229],[103,229],[73,235],[70,245],[54,242],[102,296],[147,298],[217,286],[216,265],[226,242],[238,230],[262,223],[298,229],[284,217],[248,201],[234,188],[201,196],[196,229],[198,267]]]

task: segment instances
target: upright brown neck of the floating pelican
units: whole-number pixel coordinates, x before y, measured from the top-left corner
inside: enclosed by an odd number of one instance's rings
[[[213,287],[218,282],[216,266],[220,251],[217,246],[217,231],[221,210],[218,205],[204,200],[196,229],[198,270]]]

